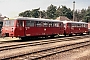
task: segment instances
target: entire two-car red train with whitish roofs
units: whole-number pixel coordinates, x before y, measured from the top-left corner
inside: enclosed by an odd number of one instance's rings
[[[34,36],[54,36],[60,34],[83,34],[87,32],[88,24],[85,22],[21,17],[12,20],[4,20],[1,35],[24,38]]]

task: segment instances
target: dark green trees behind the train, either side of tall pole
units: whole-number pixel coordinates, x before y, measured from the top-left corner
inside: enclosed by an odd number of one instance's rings
[[[90,22],[90,7],[88,9],[76,10],[74,12],[76,21]],[[46,10],[40,11],[40,8],[26,10],[19,13],[19,16],[23,17],[34,17],[34,18],[48,18],[56,19],[59,16],[66,16],[69,19],[73,19],[73,10],[67,8],[66,6],[54,6],[50,5]]]

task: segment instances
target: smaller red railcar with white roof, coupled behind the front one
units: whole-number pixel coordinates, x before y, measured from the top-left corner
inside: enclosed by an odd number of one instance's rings
[[[88,24],[85,22],[73,22],[73,21],[63,21],[64,23],[64,34],[83,34],[88,32]]]

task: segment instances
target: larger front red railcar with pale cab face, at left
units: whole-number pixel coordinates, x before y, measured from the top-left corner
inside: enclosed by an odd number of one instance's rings
[[[54,36],[64,33],[64,25],[59,20],[21,17],[4,20],[1,31],[8,37]]]

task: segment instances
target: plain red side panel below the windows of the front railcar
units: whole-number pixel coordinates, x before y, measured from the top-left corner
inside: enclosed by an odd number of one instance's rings
[[[48,24],[47,24],[48,25]],[[62,26],[50,27],[50,26],[33,26],[33,27],[25,27],[26,36],[41,36],[41,35],[53,35],[53,34],[63,34],[64,27]]]

